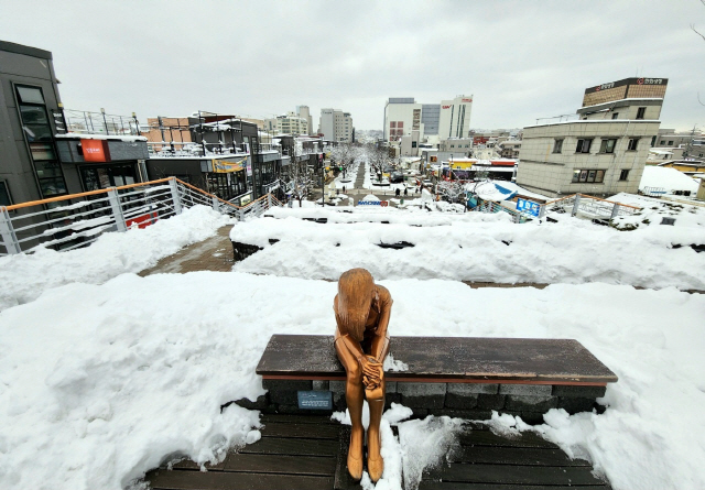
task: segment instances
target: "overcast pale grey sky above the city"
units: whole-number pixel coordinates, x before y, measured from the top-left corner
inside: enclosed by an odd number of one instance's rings
[[[669,78],[662,127],[705,127],[705,6],[668,1],[0,0],[0,40],[51,51],[65,107],[381,129],[388,97],[474,95],[473,128],[575,112],[585,88]]]

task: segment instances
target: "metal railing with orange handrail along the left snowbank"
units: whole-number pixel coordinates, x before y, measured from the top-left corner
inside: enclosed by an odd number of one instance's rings
[[[36,247],[63,251],[86,247],[106,231],[144,228],[196,205],[239,220],[282,206],[271,194],[236,206],[175,177],[0,206],[0,255]]]

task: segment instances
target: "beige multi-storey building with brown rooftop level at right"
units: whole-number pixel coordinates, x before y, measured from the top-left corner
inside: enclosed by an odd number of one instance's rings
[[[524,128],[517,184],[547,196],[637,193],[668,79],[589,87],[572,120]]]

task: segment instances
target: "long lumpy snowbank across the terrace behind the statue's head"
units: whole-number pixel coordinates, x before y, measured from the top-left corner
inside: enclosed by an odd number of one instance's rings
[[[306,210],[299,216],[308,216]],[[310,211],[308,211],[310,213]],[[317,211],[322,225],[276,216],[237,224],[230,237],[263,250],[236,264],[240,272],[337,279],[365,265],[379,279],[452,279],[498,283],[605,282],[643,287],[705,290],[705,253],[673,244],[705,243],[702,227],[649,227],[621,232],[586,220],[514,225],[506,214]],[[389,224],[381,224],[387,216]],[[398,218],[398,219],[397,219]],[[360,222],[351,222],[358,220]],[[427,227],[427,222],[436,225]],[[411,225],[423,225],[411,226]],[[270,244],[270,239],[279,242]],[[402,250],[378,243],[405,241]]]

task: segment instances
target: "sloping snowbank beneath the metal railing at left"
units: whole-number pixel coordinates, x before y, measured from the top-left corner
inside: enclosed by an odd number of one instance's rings
[[[56,252],[40,247],[31,254],[0,258],[0,311],[62,284],[99,284],[123,272],[139,272],[229,222],[209,207],[195,206],[144,229],[104,233],[83,249]]]

